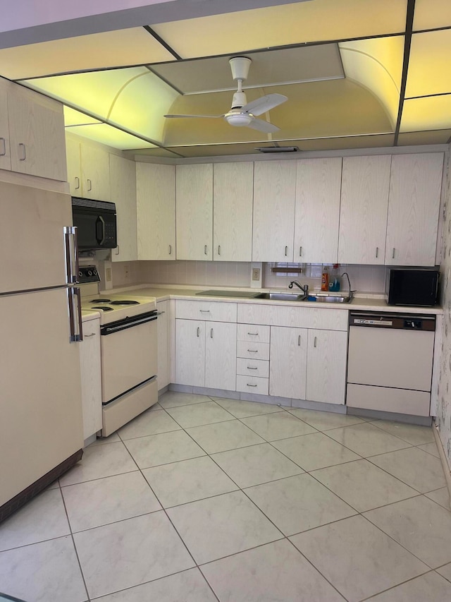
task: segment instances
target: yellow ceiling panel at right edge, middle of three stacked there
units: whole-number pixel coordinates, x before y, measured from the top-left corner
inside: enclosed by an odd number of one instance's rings
[[[412,35],[405,96],[451,92],[450,56],[451,30]]]

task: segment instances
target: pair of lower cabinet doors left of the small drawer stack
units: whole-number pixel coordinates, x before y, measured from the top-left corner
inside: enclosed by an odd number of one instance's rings
[[[175,320],[175,382],[235,391],[235,323]]]

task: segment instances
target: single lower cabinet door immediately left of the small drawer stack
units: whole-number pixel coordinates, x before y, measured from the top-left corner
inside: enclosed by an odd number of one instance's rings
[[[237,325],[205,324],[205,386],[235,391]]]

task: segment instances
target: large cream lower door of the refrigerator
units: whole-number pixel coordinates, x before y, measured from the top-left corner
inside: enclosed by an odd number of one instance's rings
[[[83,446],[66,289],[0,297],[0,506]]]

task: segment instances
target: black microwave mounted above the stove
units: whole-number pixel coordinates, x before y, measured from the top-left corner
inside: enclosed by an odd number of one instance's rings
[[[79,251],[118,246],[114,203],[73,196],[72,217]]]

